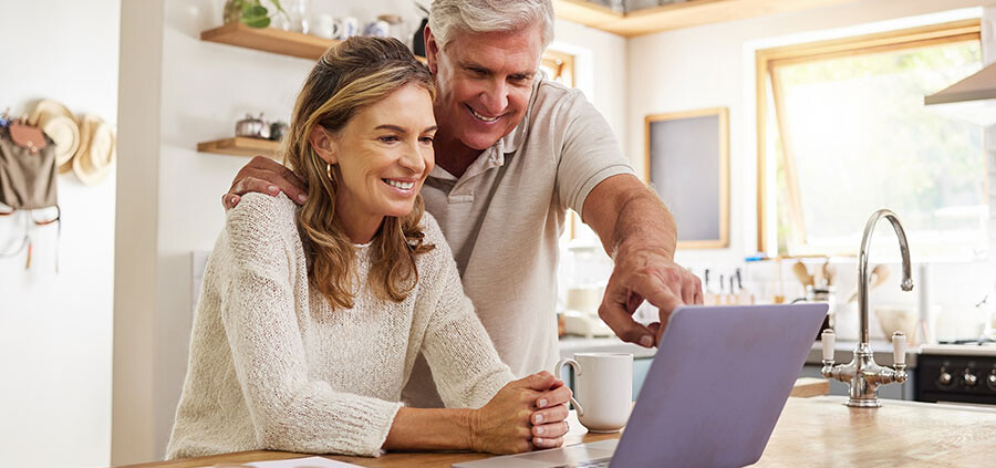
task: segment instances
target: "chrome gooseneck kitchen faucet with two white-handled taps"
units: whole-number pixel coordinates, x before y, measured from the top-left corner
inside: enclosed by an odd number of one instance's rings
[[[878,408],[879,386],[891,383],[906,382],[906,336],[903,332],[892,335],[892,356],[895,368],[881,366],[875,363],[871,347],[868,345],[868,251],[871,248],[872,232],[879,219],[885,218],[892,223],[895,236],[899,237],[900,252],[903,256],[903,291],[913,290],[913,279],[910,277],[910,247],[906,245],[906,235],[903,226],[894,212],[880,209],[872,214],[864,226],[864,237],[861,239],[861,252],[858,256],[858,320],[861,330],[861,342],[854,349],[854,357],[848,364],[833,365],[833,330],[824,330],[821,334],[823,342],[823,367],[820,373],[827,378],[833,378],[850,384],[848,392],[848,406],[857,408]]]

